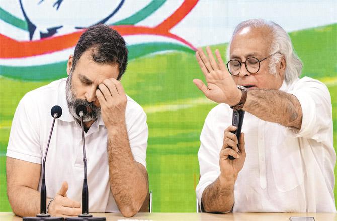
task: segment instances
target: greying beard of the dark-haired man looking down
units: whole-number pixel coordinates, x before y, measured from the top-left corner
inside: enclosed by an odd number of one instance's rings
[[[77,99],[75,97],[74,91],[72,91],[71,85],[72,73],[69,74],[69,77],[65,86],[65,96],[67,99],[69,111],[74,116],[75,119],[80,120],[80,117],[76,114],[76,107],[78,105],[83,105],[91,110],[91,112],[87,112],[85,116],[83,116],[84,122],[95,121],[97,118],[101,116],[101,108],[94,105],[93,102],[89,103],[87,100]]]

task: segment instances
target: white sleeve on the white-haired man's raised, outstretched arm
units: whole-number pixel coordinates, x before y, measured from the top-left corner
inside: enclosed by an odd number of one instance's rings
[[[327,87],[318,80],[304,77],[288,93],[296,96],[302,107],[301,129],[287,128],[289,135],[318,142],[326,140],[323,136],[328,134],[326,130],[332,124],[331,97]]]

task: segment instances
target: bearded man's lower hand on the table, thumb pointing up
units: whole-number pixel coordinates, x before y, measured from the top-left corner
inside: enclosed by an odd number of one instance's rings
[[[81,203],[67,197],[68,183],[63,182],[61,189],[56,193],[49,205],[48,213],[51,216],[77,216],[82,213]]]

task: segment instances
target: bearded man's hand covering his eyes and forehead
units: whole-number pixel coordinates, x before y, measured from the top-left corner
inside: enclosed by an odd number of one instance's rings
[[[96,96],[101,105],[102,118],[109,128],[125,124],[127,97],[122,84],[115,78],[105,79],[98,85]]]

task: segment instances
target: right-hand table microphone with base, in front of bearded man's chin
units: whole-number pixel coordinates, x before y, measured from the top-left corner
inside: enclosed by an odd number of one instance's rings
[[[86,145],[85,145],[85,136],[84,136],[84,125],[83,125],[83,116],[87,114],[87,108],[84,105],[78,105],[76,107],[76,114],[81,118],[81,127],[82,127],[82,144],[83,144],[83,162],[84,162],[84,181],[83,181],[83,192],[82,192],[82,214],[79,214],[78,217],[66,217],[64,220],[98,220],[105,221],[105,217],[93,217],[89,214],[89,192],[87,184],[87,158],[86,158]]]

